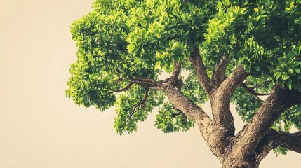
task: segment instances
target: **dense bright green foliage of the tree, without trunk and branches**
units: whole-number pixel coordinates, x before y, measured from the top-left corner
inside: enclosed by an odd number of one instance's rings
[[[132,78],[159,80],[179,62],[185,71],[182,94],[201,106],[208,97],[189,62],[194,46],[210,77],[222,58],[228,62],[226,76],[245,66],[250,76],[232,102],[246,122],[275,83],[301,92],[300,0],[96,0],[93,8],[71,26],[79,50],[66,94],[101,111],[116,106],[119,134],[137,130],[154,107],[159,107],[155,125],[163,132],[194,125],[164,92],[131,83]],[[288,109],[273,128],[288,132],[292,126],[301,129],[301,106]]]

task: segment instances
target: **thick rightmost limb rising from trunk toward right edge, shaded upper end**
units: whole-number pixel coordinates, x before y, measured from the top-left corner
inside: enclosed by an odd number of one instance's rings
[[[255,116],[236,136],[232,153],[241,154],[242,158],[253,155],[274,121],[295,104],[301,104],[301,92],[276,85]]]

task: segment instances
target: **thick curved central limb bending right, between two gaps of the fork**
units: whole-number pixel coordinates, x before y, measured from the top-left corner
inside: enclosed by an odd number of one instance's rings
[[[211,101],[213,121],[215,125],[221,126],[224,135],[234,136],[234,121],[230,111],[230,98],[234,90],[247,78],[248,74],[243,66],[238,66],[232,74],[226,78],[215,92]]]

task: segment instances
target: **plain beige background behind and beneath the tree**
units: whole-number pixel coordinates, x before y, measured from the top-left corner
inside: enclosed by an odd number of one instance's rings
[[[91,2],[0,0],[0,167],[220,167],[196,129],[163,134],[154,111],[138,132],[119,136],[114,109],[65,98],[76,53],[69,25]],[[300,156],[271,153],[261,167],[297,168]]]

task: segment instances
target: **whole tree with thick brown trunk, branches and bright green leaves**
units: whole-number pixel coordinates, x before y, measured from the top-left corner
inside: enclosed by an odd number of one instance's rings
[[[196,125],[222,167],[259,167],[271,150],[301,153],[301,131],[289,132],[301,129],[300,4],[96,0],[71,26],[79,50],[67,97],[116,106],[119,134],[159,107],[156,127]],[[238,134],[231,104],[246,121]]]

